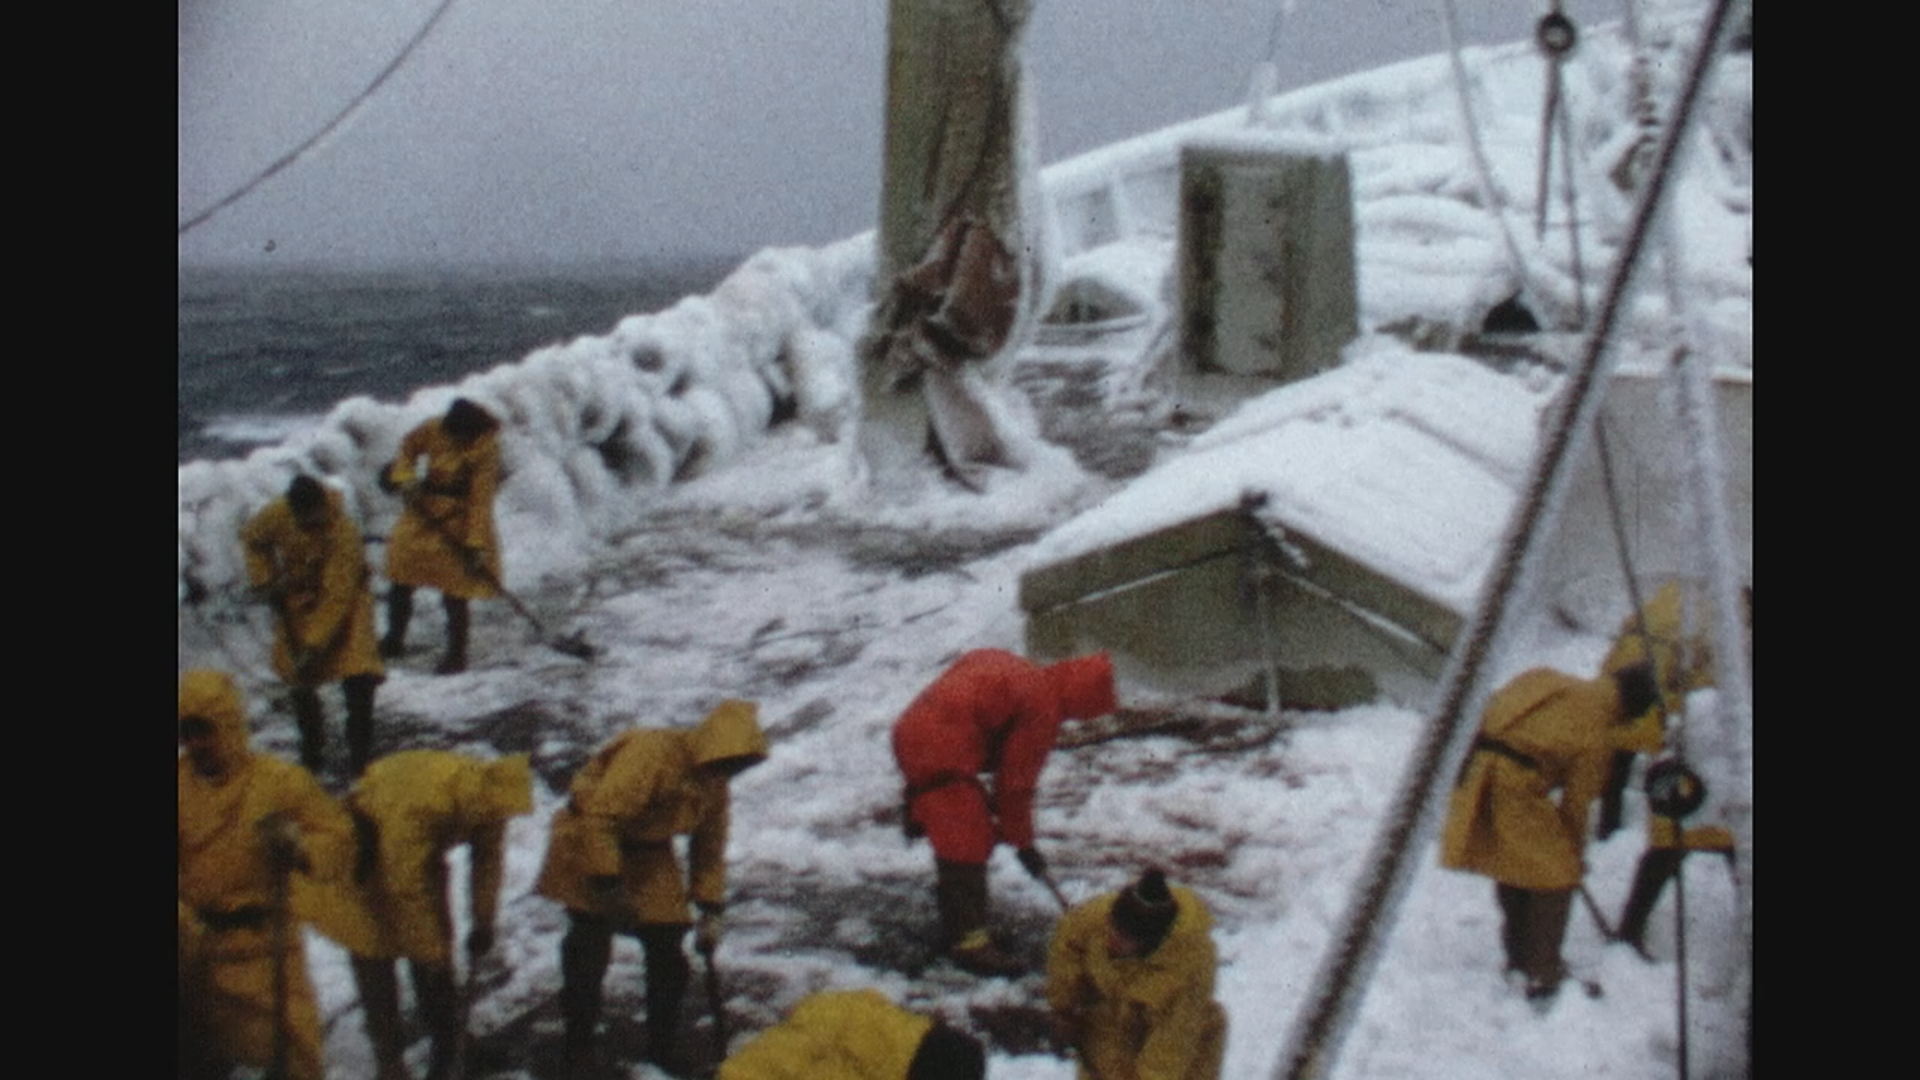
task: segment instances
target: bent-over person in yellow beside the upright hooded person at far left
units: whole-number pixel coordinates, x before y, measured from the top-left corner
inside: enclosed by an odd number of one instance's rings
[[[403,749],[367,767],[348,794],[357,855],[353,874],[326,890],[313,926],[353,963],[378,1080],[409,1080],[399,1017],[397,961],[434,1049],[428,1080],[451,1074],[461,1040],[453,984],[447,853],[468,851],[467,963],[493,949],[507,821],[534,809],[524,753],[484,761],[445,749]]]

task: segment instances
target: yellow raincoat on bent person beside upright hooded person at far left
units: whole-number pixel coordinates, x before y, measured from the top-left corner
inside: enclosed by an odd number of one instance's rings
[[[355,872],[323,896],[313,926],[349,951],[447,967],[447,851],[465,844],[474,926],[493,926],[507,819],[534,809],[526,755],[482,761],[403,749],[367,767],[348,809],[359,819]]]

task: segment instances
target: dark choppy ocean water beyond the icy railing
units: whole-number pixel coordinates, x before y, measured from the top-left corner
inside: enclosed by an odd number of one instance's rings
[[[180,461],[403,402],[705,294],[745,256],[541,271],[180,269]]]

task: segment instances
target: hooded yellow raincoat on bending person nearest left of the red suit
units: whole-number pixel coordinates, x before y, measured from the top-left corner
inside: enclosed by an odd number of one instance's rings
[[[758,707],[722,701],[693,730],[636,728],[603,746],[553,815],[534,892],[572,911],[634,922],[691,922],[687,899],[726,897],[728,776],[699,769],[766,757]],[[687,836],[687,874],[674,855]],[[599,911],[589,878],[620,878],[624,911]]]

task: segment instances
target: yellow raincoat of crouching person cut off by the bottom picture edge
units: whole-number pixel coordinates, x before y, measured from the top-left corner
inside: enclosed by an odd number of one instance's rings
[[[876,990],[824,990],[726,1059],[718,1080],[906,1080],[931,1028]]]

